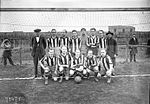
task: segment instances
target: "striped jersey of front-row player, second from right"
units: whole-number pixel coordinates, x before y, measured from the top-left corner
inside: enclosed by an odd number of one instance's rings
[[[84,61],[85,61],[84,63],[85,63],[86,67],[97,65],[97,60],[96,60],[96,57],[94,55],[91,58],[86,57]]]

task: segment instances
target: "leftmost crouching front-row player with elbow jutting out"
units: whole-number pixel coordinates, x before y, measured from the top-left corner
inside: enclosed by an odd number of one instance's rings
[[[40,61],[40,66],[44,69],[45,84],[48,84],[48,77],[51,76],[54,81],[57,81],[57,58],[54,56],[54,50],[50,49]]]

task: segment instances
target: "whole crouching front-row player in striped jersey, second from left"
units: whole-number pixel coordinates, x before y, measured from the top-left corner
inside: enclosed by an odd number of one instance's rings
[[[69,68],[71,64],[71,55],[66,46],[62,46],[61,53],[58,58],[58,75],[60,77],[59,82],[62,82],[63,77],[69,80]]]

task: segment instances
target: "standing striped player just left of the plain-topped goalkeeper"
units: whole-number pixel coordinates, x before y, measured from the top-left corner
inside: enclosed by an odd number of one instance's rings
[[[70,39],[71,52],[74,54],[76,50],[81,49],[81,39],[78,37],[76,30],[72,31],[72,38]]]

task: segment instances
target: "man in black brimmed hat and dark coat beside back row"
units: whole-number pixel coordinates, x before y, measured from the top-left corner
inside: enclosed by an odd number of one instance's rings
[[[107,40],[107,54],[111,57],[112,59],[112,63],[113,63],[113,67],[116,65],[116,56],[118,55],[118,48],[117,48],[117,41],[115,39],[113,39],[113,33],[112,32],[108,32],[106,33]]]

